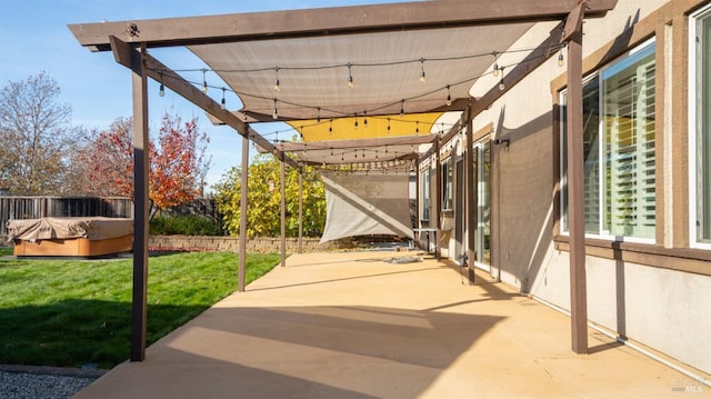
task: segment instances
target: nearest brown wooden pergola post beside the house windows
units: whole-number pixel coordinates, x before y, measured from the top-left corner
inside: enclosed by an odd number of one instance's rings
[[[568,41],[568,213],[570,230],[570,316],[572,350],[588,352],[585,278],[584,161],[582,123],[582,18],[585,1],[571,11],[563,30]]]

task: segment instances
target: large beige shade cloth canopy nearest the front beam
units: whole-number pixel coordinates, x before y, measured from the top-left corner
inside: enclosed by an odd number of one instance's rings
[[[445,110],[448,96],[467,99],[475,80],[491,72],[494,54],[509,49],[531,26],[339,34],[189,49],[238,93],[243,103],[240,112],[248,121],[271,121],[274,113],[279,120],[363,114],[394,119],[401,111]],[[424,82],[420,80],[423,71]]]

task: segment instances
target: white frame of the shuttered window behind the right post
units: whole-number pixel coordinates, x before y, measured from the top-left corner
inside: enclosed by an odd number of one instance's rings
[[[589,83],[591,80],[593,79],[601,79],[601,76],[604,74],[605,71],[608,71],[611,68],[617,68],[620,62],[622,62],[623,60],[628,59],[629,57],[634,56],[635,53],[640,52],[641,50],[645,49],[648,46],[655,43],[657,39],[655,38],[651,38],[642,43],[640,43],[639,46],[635,46],[633,49],[629,50],[628,52],[625,52],[624,54],[618,57],[614,61],[610,62],[609,64],[600,68],[599,70],[595,70],[594,72],[590,73],[589,76],[583,78],[583,86]],[[654,51],[659,51],[659,49],[654,49]],[[600,90],[602,90],[602,84],[600,84]],[[559,92],[559,103],[561,104],[565,104],[567,107],[567,102],[563,102],[564,96],[568,93],[568,89],[561,90]],[[600,97],[599,97],[599,109],[602,110],[602,101],[604,101],[603,98],[603,93],[600,92]],[[659,99],[654,99],[654,101],[658,101]],[[561,107],[560,108],[560,112],[561,112],[561,127],[562,127],[562,121],[564,120],[564,116],[562,114],[562,112],[564,112],[564,110],[567,109],[565,107]],[[604,123],[604,119],[600,118],[600,122],[598,126],[598,131],[602,132],[603,130],[603,126],[602,123]],[[561,131],[561,140],[560,140],[560,157],[559,157],[559,164],[560,164],[560,171],[561,171],[561,176],[559,177],[560,182],[561,182],[561,187],[568,187],[567,186],[567,179],[568,176],[565,174],[563,177],[562,172],[563,172],[563,151],[567,151],[567,149],[564,148],[564,140],[562,134],[567,134],[567,132],[563,129],[560,129]],[[659,131],[659,127],[657,127],[657,131],[655,131],[655,136],[659,137],[658,134],[660,133]],[[600,138],[599,138],[600,140]],[[599,159],[602,160],[605,157],[605,148],[604,146],[598,146],[598,153],[599,153]],[[658,160],[655,160],[658,161]],[[603,171],[601,170],[601,176],[602,176]],[[563,182],[565,182],[565,184],[563,184]],[[604,180],[601,178],[598,181],[599,184],[599,192],[604,192]],[[605,207],[605,202],[603,200],[603,197],[600,197],[600,203],[598,205],[599,209],[598,209],[598,215],[599,215],[599,233],[592,233],[592,232],[588,232],[585,231],[585,237],[587,238],[592,238],[592,239],[603,239],[603,240],[609,240],[609,241],[617,241],[617,242],[637,242],[637,243],[655,243],[657,240],[655,238],[640,238],[640,237],[627,237],[627,236],[613,236],[610,235],[610,232],[608,230],[603,230],[603,226],[604,226],[604,217],[603,217],[603,212],[604,212],[604,207]],[[565,226],[565,223],[563,222],[563,218],[564,218],[564,202],[563,202],[563,196],[560,196],[560,226],[561,226],[561,230],[559,231],[559,233],[561,236],[570,236],[570,231],[568,229],[568,226]],[[563,229],[564,228],[564,229]],[[711,248],[711,247],[710,247]]]

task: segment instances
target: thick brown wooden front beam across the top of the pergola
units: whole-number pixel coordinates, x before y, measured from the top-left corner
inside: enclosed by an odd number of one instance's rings
[[[602,16],[618,0],[590,0],[585,14]],[[311,10],[234,13],[70,24],[92,51],[109,51],[111,36],[148,48],[319,36],[442,29],[564,19],[578,0],[438,0]]]

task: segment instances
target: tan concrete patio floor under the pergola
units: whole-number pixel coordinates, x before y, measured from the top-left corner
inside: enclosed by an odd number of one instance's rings
[[[291,256],[76,398],[711,397],[594,330],[574,355],[567,316],[485,273],[383,261],[414,253]]]

